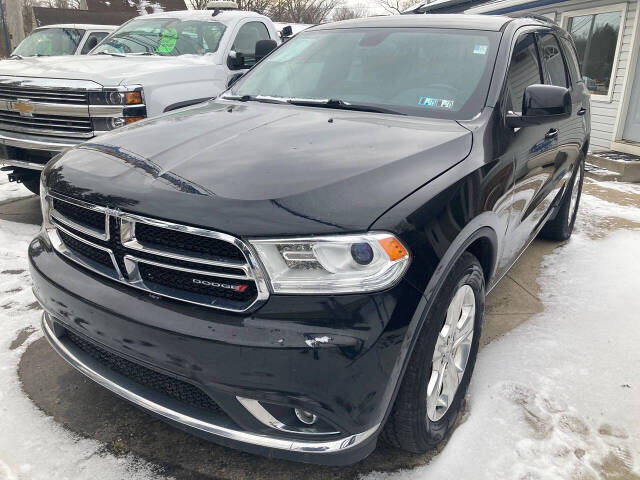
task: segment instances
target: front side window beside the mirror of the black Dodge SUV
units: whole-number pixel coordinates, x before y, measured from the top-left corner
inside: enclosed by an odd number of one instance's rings
[[[524,90],[529,85],[542,83],[540,63],[536,49],[536,37],[533,33],[521,36],[513,49],[509,73],[507,75],[508,109],[522,113]]]

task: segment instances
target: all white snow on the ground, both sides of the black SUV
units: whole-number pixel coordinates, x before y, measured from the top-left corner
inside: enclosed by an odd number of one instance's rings
[[[0,183],[0,204],[20,195]],[[592,195],[581,208],[571,241],[545,258],[544,312],[480,352],[469,413],[446,448],[368,480],[640,480],[640,230],[590,235],[604,217],[640,222],[640,209]],[[69,433],[20,389],[19,358],[41,337],[26,260],[37,230],[0,218],[0,480],[154,478],[151,465]],[[25,328],[35,333],[11,350]]]

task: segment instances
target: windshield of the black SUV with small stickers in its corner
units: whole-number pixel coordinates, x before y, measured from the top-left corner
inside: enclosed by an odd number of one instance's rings
[[[470,118],[484,106],[499,40],[498,32],[432,28],[302,32],[226,95]]]

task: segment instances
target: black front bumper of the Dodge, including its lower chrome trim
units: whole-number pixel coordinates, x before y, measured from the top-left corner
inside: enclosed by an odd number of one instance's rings
[[[257,312],[231,314],[93,275],[61,258],[44,237],[34,240],[29,257],[53,348],[128,401],[191,433],[267,456],[347,464],[375,448],[398,380],[406,322],[421,297],[410,285],[374,295],[272,296]],[[135,384],[79,349],[65,330],[197,386],[225,415],[203,415]],[[331,342],[309,341],[320,335]],[[238,397],[312,411],[337,433],[269,428]]]

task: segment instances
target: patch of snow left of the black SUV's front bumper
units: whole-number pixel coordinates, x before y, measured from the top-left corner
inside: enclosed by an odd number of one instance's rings
[[[6,178],[2,176],[1,183]],[[0,205],[30,193],[0,184]],[[102,445],[79,439],[40,412],[20,388],[17,366],[26,346],[40,338],[41,311],[31,293],[27,245],[35,225],[0,218],[0,480],[155,478],[152,468],[130,457],[101,453]],[[20,332],[33,331],[20,347]]]

